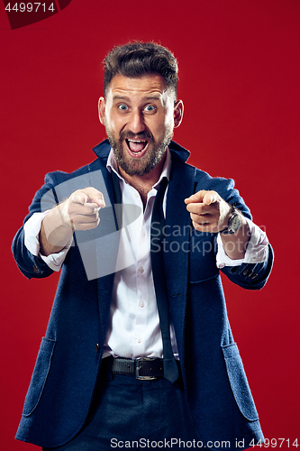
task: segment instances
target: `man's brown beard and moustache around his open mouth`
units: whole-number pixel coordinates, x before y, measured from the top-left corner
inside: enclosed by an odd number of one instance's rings
[[[120,132],[119,138],[115,138],[112,133],[107,121],[105,119],[105,129],[109,143],[111,144],[114,151],[114,158],[118,165],[126,172],[126,174],[133,176],[142,176],[148,174],[153,170],[159,161],[164,157],[168,144],[171,142],[173,137],[172,127],[168,127],[166,132],[156,141],[153,134],[149,132]],[[127,151],[124,149],[126,144],[126,139],[136,139],[145,140],[148,139],[148,149],[145,155],[141,158],[132,158]]]

